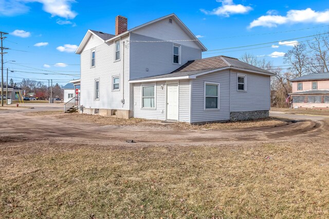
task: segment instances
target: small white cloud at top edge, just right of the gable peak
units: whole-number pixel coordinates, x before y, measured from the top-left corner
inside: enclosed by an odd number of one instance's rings
[[[200,9],[200,11],[205,14],[229,17],[231,14],[245,14],[252,10],[250,6],[234,4],[233,0],[217,0],[216,2],[222,3],[222,6],[212,11],[207,11],[205,9]]]

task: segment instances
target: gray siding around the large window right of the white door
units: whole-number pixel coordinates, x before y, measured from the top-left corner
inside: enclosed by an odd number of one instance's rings
[[[204,109],[205,82],[220,84],[220,109]],[[230,119],[230,86],[229,71],[224,70],[205,74],[192,79],[192,110],[191,123],[224,121]]]

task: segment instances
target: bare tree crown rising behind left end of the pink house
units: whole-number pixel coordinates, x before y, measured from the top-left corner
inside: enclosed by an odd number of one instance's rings
[[[283,57],[283,62],[291,65],[288,69],[295,74],[296,77],[301,77],[307,73],[308,60],[306,45],[303,43],[296,44],[294,48],[288,50]]]

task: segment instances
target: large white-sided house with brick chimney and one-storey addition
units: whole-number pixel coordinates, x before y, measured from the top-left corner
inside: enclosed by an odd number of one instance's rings
[[[268,116],[271,72],[236,58],[202,58],[205,46],[175,14],[116,34],[88,30],[81,112],[189,123]]]

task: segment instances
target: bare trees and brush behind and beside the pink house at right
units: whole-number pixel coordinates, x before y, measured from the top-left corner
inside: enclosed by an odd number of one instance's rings
[[[266,58],[245,53],[241,61],[275,73],[271,77],[271,106],[288,107],[286,98],[292,92],[290,80],[309,73],[329,72],[329,32],[318,33],[306,43],[297,43],[283,57],[285,67],[275,67]]]

